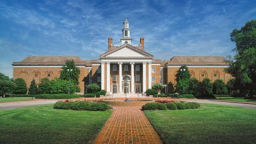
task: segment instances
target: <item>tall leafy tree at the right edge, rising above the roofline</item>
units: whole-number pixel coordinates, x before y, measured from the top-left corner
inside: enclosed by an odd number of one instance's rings
[[[228,57],[229,67],[225,71],[244,85],[246,95],[253,98],[256,87],[256,21],[247,22],[241,30],[234,29],[230,37],[236,43],[233,49],[236,54],[234,59]]]

